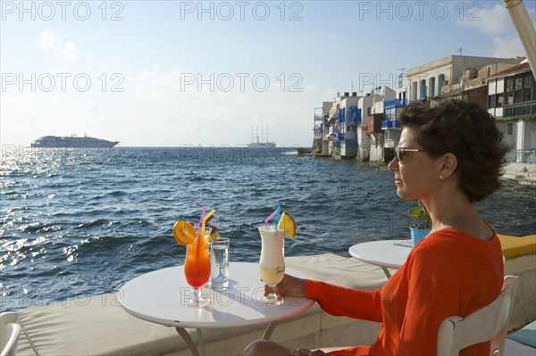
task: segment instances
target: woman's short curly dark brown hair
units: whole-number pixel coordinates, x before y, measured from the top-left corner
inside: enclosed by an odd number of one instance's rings
[[[498,190],[507,145],[495,119],[477,103],[443,100],[436,107],[411,103],[400,115],[403,126],[416,130],[417,144],[434,157],[456,155],[458,185],[470,202]]]

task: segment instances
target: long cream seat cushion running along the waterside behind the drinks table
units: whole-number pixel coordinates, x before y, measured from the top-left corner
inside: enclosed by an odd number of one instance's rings
[[[381,287],[387,280],[379,267],[332,253],[288,257],[285,261],[289,269],[339,286],[373,289]],[[312,308],[299,317],[318,312],[318,308]],[[131,316],[121,308],[115,294],[93,295],[87,299],[21,310],[19,319],[31,344],[42,355],[166,354],[187,347],[173,327]],[[203,330],[203,334],[205,342],[210,342],[255,328],[264,326]],[[196,339],[195,331],[188,331]],[[31,344],[26,335],[21,334],[19,354],[35,355]]]

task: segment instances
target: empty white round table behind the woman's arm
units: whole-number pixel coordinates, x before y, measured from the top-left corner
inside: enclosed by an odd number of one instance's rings
[[[380,266],[390,278],[389,269],[399,269],[411,251],[411,240],[381,240],[354,244],[349,253],[357,260]]]

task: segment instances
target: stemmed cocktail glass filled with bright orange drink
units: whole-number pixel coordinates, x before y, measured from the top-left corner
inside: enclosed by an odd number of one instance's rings
[[[210,240],[211,228],[205,228],[205,233],[197,231],[197,237],[186,246],[186,261],[184,262],[184,276],[188,285],[192,287],[193,296],[186,301],[189,307],[203,308],[210,304],[208,298],[201,295],[201,287],[205,285],[210,277],[210,257],[208,253],[208,242]]]

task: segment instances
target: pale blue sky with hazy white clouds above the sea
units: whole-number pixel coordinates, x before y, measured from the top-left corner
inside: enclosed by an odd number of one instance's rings
[[[536,0],[525,0],[532,19]],[[525,56],[502,1],[0,1],[0,145],[311,146],[314,108],[448,55]]]

